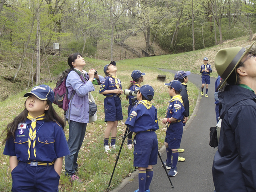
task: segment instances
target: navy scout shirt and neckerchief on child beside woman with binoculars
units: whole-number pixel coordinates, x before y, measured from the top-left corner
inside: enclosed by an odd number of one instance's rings
[[[116,78],[116,79],[115,79]],[[117,81],[117,83],[116,83]],[[99,93],[104,92],[105,90],[122,90],[122,84],[120,79],[114,76],[105,76],[105,82],[101,84]],[[104,96],[114,95],[115,93],[103,94]]]

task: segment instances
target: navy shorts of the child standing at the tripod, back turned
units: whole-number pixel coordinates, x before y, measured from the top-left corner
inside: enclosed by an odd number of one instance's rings
[[[158,141],[155,131],[144,131],[135,135],[134,167],[157,164]]]

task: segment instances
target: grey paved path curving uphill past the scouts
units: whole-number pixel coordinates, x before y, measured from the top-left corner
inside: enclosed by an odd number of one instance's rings
[[[163,71],[175,73],[172,70]],[[191,74],[188,77],[189,81],[201,90],[201,76]],[[175,186],[174,189],[172,189],[158,158],[157,165],[153,166],[154,176],[150,185],[151,192],[213,192],[212,161],[216,148],[209,146],[209,128],[216,125],[215,80],[215,78],[211,78],[208,91],[209,97],[201,97],[200,103],[196,107],[198,111],[192,121],[189,122],[189,125],[184,127],[180,148],[184,148],[185,152],[180,153],[180,156],[186,158],[186,161],[177,163],[178,174],[175,177],[171,177]],[[165,149],[161,151],[162,159],[165,161],[166,151]],[[136,174],[137,172],[134,173],[134,175]],[[127,180],[129,180],[129,177]],[[112,192],[134,192],[138,188],[138,176],[135,176],[131,182],[122,183]]]

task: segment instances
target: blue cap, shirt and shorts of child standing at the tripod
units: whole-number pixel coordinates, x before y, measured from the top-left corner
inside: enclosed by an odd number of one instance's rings
[[[145,91],[148,89],[150,91]],[[154,96],[154,89],[150,85],[136,88],[140,90],[146,99],[149,94]],[[147,94],[148,93],[148,94]],[[134,135],[134,166],[148,167],[157,164],[158,142],[155,131],[159,129],[157,109],[151,104],[151,100],[139,101],[131,109],[125,125],[128,125]]]

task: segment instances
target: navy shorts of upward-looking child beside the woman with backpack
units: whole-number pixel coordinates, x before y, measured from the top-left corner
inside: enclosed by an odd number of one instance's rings
[[[105,122],[119,121],[124,119],[122,116],[121,98],[113,95],[104,99]]]

